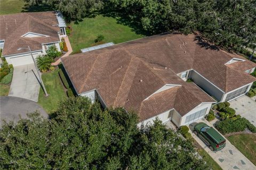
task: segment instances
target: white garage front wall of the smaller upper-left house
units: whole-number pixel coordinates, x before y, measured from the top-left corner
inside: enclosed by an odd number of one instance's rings
[[[32,54],[36,59],[38,55],[42,55],[42,52],[32,52]],[[30,53],[6,56],[5,59],[9,64],[13,64],[14,67],[34,63]]]

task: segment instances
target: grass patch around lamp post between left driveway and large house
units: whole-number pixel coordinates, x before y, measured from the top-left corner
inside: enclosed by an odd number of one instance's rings
[[[50,114],[57,110],[59,103],[66,99],[67,95],[59,77],[59,69],[42,74],[42,79],[49,96],[46,98],[42,88],[40,88],[38,104]]]

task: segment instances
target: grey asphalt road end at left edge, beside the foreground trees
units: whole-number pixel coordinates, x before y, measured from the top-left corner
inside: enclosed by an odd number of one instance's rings
[[[48,117],[47,113],[41,106],[36,102],[27,99],[12,96],[1,96],[0,106],[0,126],[2,125],[3,119],[5,119],[6,122],[13,120],[14,123],[17,123],[20,117],[28,118],[27,113],[34,112],[36,110],[38,110],[44,118]]]

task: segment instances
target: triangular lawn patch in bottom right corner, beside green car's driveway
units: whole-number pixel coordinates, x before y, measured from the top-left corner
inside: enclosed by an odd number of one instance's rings
[[[229,136],[228,140],[256,165],[256,135],[239,134]]]

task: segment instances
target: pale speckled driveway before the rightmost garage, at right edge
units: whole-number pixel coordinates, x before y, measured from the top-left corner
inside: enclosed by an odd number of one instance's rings
[[[230,107],[236,110],[237,115],[249,120],[256,126],[256,102],[246,95],[229,102]]]

